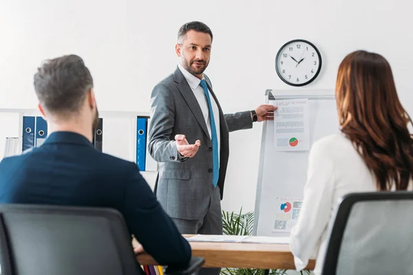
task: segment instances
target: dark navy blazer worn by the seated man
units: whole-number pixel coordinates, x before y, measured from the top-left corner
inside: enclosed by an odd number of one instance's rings
[[[138,166],[100,151],[83,135],[55,132],[42,146],[0,163],[0,203],[115,208],[160,265],[184,264],[191,247]]]

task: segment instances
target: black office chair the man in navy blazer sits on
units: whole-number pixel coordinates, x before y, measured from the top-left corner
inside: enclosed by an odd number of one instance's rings
[[[1,275],[145,275],[122,215],[108,208],[0,205]],[[166,274],[192,274],[204,259]]]

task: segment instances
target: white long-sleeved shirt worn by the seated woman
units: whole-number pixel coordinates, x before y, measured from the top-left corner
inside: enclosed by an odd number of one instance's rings
[[[321,274],[328,226],[334,222],[339,199],[350,192],[376,190],[374,174],[347,137],[340,133],[315,142],[308,159],[303,204],[290,233],[296,269],[303,270],[309,259],[317,258],[314,274]]]

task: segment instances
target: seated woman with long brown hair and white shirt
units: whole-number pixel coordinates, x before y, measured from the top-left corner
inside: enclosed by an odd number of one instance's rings
[[[297,270],[317,259],[324,264],[329,223],[339,199],[350,192],[411,190],[412,125],[394,85],[392,69],[379,54],[357,51],[339,66],[336,101],[341,133],[315,142],[308,179],[290,248]]]

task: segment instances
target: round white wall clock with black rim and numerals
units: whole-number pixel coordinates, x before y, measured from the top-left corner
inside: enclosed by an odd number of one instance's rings
[[[275,58],[279,78],[292,86],[304,86],[317,78],[321,54],[312,43],[297,39],[284,44]]]

